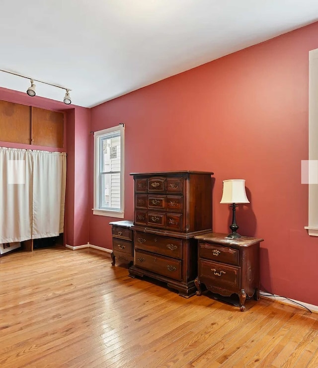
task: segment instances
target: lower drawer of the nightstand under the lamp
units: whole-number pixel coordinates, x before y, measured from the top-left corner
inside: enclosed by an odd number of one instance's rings
[[[200,259],[199,278],[204,283],[208,280],[212,288],[231,290],[233,293],[240,290],[240,267]]]

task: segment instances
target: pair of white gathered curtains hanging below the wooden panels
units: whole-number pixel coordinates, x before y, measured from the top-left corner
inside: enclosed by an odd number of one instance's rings
[[[66,153],[0,147],[0,243],[63,232]]]

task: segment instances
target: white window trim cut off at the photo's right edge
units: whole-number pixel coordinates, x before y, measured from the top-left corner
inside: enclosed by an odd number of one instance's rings
[[[309,160],[318,160],[318,49],[309,52]],[[317,161],[318,162],[318,161]],[[308,234],[318,236],[318,184],[308,185]]]

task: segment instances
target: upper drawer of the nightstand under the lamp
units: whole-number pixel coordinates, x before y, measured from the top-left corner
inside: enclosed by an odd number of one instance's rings
[[[199,242],[199,257],[239,266],[239,249]]]

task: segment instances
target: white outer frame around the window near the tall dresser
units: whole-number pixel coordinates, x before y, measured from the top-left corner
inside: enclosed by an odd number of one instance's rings
[[[99,193],[100,193],[100,180],[99,167],[100,167],[100,137],[105,134],[113,132],[120,132],[120,209],[119,210],[104,210],[99,208]],[[109,216],[123,219],[124,218],[124,177],[125,177],[125,126],[119,124],[116,127],[103,129],[94,132],[94,208],[93,215]]]

